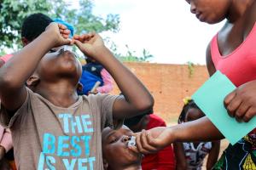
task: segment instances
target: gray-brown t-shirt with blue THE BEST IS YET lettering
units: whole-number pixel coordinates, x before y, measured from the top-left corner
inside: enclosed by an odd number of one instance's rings
[[[117,96],[79,96],[61,108],[27,91],[26,102],[10,120],[3,106],[0,111],[0,121],[12,132],[18,169],[102,170],[102,128],[113,125]]]

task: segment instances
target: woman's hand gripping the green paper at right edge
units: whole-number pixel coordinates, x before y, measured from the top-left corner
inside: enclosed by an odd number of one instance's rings
[[[229,115],[237,121],[249,122],[256,116],[256,81],[247,82],[236,88],[224,99]]]

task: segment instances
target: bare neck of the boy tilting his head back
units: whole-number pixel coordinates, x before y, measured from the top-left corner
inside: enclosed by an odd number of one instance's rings
[[[53,105],[69,107],[78,100],[76,86],[68,81],[55,83],[40,82],[35,89],[35,93],[48,99]]]

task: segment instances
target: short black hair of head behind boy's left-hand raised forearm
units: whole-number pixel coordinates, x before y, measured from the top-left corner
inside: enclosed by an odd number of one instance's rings
[[[21,26],[21,37],[25,37],[32,42],[37,38],[45,28],[53,22],[47,15],[42,13],[31,14],[23,21]]]

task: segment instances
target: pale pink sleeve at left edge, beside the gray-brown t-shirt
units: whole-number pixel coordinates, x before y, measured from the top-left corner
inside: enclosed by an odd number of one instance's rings
[[[13,147],[12,136],[9,129],[0,126],[0,145],[2,145],[6,152]]]

